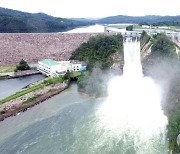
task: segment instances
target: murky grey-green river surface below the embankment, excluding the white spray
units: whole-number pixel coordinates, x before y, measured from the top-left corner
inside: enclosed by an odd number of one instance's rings
[[[127,137],[124,142],[118,133],[101,127],[97,112],[104,100],[83,95],[72,84],[61,94],[1,122],[0,153],[165,154],[161,138],[152,140],[153,150],[138,153],[131,138],[123,135]]]

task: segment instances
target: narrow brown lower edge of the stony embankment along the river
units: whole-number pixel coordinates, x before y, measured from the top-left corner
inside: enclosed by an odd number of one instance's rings
[[[21,105],[17,106],[14,110],[10,110],[10,111],[7,111],[7,113],[1,114],[0,115],[0,122],[4,121],[6,118],[9,118],[11,116],[16,116],[18,113],[25,112],[29,108],[32,108],[33,106],[38,105],[38,104],[52,98],[53,96],[55,96],[57,94],[60,94],[61,92],[63,92],[64,90],[66,90],[69,87],[70,83],[71,83],[71,81],[68,81],[66,83],[65,87],[57,89],[54,92],[48,92],[46,94],[43,94],[40,98],[38,98],[37,100],[35,100],[32,103],[29,103],[27,105],[21,104]]]

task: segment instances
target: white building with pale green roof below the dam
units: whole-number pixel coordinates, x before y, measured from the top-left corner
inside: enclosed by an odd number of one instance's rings
[[[65,75],[69,70],[84,71],[86,70],[86,63],[77,60],[73,61],[54,61],[52,59],[44,59],[38,62],[38,70],[46,76],[56,77]]]

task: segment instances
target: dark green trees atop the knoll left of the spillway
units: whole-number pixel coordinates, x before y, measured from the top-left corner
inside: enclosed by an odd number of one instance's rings
[[[95,64],[100,65],[102,69],[107,69],[114,63],[109,60],[110,55],[122,51],[122,35],[98,35],[91,37],[88,42],[83,43],[79,48],[77,48],[72,53],[70,59],[85,61],[89,69],[92,69]]]

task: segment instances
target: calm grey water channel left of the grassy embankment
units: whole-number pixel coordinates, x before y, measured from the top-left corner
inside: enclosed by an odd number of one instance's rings
[[[0,100],[22,90],[22,88],[28,84],[44,78],[43,75],[31,75],[15,79],[0,80]]]

